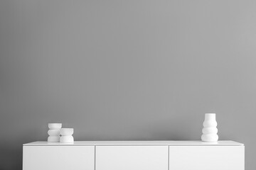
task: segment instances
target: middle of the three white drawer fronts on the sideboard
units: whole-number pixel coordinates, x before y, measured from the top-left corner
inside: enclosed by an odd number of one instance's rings
[[[97,146],[96,170],[168,170],[168,146]]]

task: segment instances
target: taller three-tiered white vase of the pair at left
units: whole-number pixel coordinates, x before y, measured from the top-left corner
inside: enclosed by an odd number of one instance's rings
[[[60,128],[62,123],[48,123],[48,142],[60,142]]]

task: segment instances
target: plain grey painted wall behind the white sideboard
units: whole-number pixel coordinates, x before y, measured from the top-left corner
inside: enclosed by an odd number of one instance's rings
[[[47,123],[75,140],[245,143],[256,169],[256,3],[0,1],[0,169]]]

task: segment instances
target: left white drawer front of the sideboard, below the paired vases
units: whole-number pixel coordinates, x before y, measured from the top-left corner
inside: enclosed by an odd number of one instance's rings
[[[94,146],[24,146],[23,170],[94,170]]]

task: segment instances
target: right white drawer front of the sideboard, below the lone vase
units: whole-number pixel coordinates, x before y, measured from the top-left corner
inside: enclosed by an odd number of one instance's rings
[[[169,170],[244,170],[244,146],[169,147]]]

